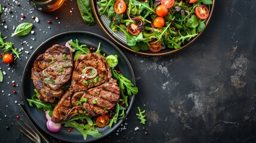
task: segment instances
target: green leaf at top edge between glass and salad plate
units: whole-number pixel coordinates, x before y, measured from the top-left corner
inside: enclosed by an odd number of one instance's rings
[[[88,25],[92,25],[95,23],[93,14],[92,14],[92,9],[91,9],[91,1],[88,0],[77,0],[78,3],[78,8],[80,11],[80,14]]]

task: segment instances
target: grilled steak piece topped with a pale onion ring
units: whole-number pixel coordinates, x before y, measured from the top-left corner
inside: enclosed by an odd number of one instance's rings
[[[86,80],[84,70],[87,67],[93,67],[96,69],[97,76]],[[86,91],[89,88],[109,81],[111,77],[112,73],[109,64],[107,64],[106,58],[97,53],[79,55],[74,64],[71,89],[74,92]]]

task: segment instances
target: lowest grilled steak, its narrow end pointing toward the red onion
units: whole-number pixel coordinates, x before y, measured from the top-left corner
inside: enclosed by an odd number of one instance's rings
[[[58,123],[62,120],[70,120],[76,114],[86,116],[107,114],[112,107],[115,107],[119,97],[120,88],[115,79],[110,79],[109,82],[88,91],[75,92],[73,95],[68,91],[54,107],[51,120]]]

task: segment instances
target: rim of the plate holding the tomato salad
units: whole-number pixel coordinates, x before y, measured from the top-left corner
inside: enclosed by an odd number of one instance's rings
[[[90,1],[91,1],[92,13],[94,14],[94,17],[95,17],[97,23],[100,25],[100,27],[103,30],[103,32],[106,33],[106,35],[109,36],[109,38],[112,41],[114,41],[115,43],[118,43],[119,46],[121,46],[122,48],[126,49],[129,52],[133,52],[135,54],[141,54],[141,55],[149,55],[149,56],[161,56],[161,55],[174,54],[174,53],[176,53],[178,51],[183,50],[184,48],[187,48],[189,45],[191,45],[193,42],[195,42],[197,39],[199,39],[199,37],[202,35],[202,33],[208,27],[209,21],[211,20],[211,17],[212,17],[212,13],[214,11],[214,5],[215,5],[215,0],[212,0],[211,12],[209,13],[209,17],[206,20],[205,29],[203,29],[202,32],[198,33],[198,35],[195,38],[192,39],[192,41],[189,41],[188,43],[183,45],[180,49],[174,49],[174,50],[167,51],[167,52],[141,52],[141,51],[136,52],[133,49],[129,48],[128,45],[122,43],[121,41],[119,41],[118,39],[113,37],[111,35],[111,33],[108,32],[108,30],[105,28],[106,26],[100,20],[100,14],[98,13],[97,8],[95,7],[95,5],[97,5],[97,1],[95,1],[95,0],[90,0]]]

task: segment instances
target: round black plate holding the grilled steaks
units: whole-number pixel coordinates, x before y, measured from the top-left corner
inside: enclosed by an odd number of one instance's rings
[[[77,130],[72,130],[72,132],[67,132],[68,128],[61,129],[58,133],[52,133],[47,129],[46,123],[47,119],[45,118],[45,113],[42,110],[39,110],[36,107],[30,107],[27,98],[31,99],[32,95],[35,94],[33,91],[34,86],[31,79],[31,69],[33,67],[33,62],[36,60],[38,55],[43,54],[48,48],[50,48],[52,45],[58,43],[61,45],[64,45],[67,41],[70,39],[78,39],[79,43],[85,43],[87,44],[87,47],[98,47],[98,43],[101,42],[100,49],[101,53],[105,53],[106,55],[113,54],[118,55],[118,66],[115,67],[115,69],[118,69],[121,71],[121,73],[131,80],[132,83],[134,83],[135,86],[135,78],[134,73],[132,71],[131,64],[129,64],[129,61],[125,57],[125,55],[122,53],[122,51],[112,42],[108,41],[106,38],[103,38],[102,36],[95,35],[94,33],[89,32],[66,32],[61,33],[59,35],[53,36],[52,38],[48,39],[44,43],[42,43],[31,55],[29,58],[29,61],[26,64],[26,67],[24,69],[23,73],[23,83],[21,86],[21,90],[23,93],[24,98],[24,105],[26,107],[27,113],[30,116],[30,119],[37,125],[40,129],[42,129],[45,133],[47,133],[50,136],[53,136],[54,138],[60,139],[61,141],[67,141],[67,142],[90,142],[95,141],[100,138],[93,138],[92,136],[88,135],[87,140],[84,140],[81,133],[79,133]],[[134,102],[134,96],[129,96],[128,99],[129,107],[126,110],[126,116],[128,115],[129,111],[131,110],[132,104]],[[104,136],[109,135],[109,133],[113,132],[116,128],[121,125],[121,123],[124,120],[118,120],[118,123],[116,125],[112,126],[110,129],[109,126],[106,126],[103,129],[98,129],[99,132],[103,134],[101,138]]]

